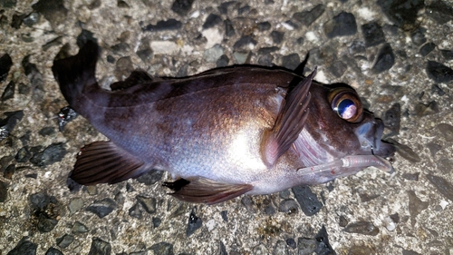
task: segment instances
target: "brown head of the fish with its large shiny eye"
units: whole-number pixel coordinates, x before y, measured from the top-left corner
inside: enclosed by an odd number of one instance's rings
[[[331,155],[331,160],[370,154],[387,158],[395,152],[392,144],[381,141],[381,119],[363,109],[359,94],[351,86],[313,83],[310,93],[310,114],[304,130]]]

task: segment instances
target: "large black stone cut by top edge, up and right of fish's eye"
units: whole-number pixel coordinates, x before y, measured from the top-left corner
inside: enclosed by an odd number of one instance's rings
[[[416,25],[417,14],[425,6],[423,0],[378,0],[377,4],[393,24],[404,29]]]

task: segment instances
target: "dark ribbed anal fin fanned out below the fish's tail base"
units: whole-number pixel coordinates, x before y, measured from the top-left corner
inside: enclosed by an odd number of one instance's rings
[[[147,172],[144,163],[113,142],[92,142],[77,156],[70,178],[83,185],[116,183]]]

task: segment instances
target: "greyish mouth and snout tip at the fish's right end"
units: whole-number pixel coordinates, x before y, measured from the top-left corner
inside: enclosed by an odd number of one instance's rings
[[[382,123],[381,119],[373,119],[367,123],[361,124],[355,133],[361,143],[361,149],[363,151],[368,151],[371,152],[371,154],[387,158],[393,155],[396,148],[390,142],[381,141],[383,132],[384,123]]]

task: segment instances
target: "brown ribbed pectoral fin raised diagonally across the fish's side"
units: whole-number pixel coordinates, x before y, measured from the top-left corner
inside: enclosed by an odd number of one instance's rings
[[[284,108],[278,114],[272,130],[265,131],[261,142],[261,152],[265,164],[272,167],[276,160],[288,151],[297,136],[304,129],[308,116],[308,103],[310,103],[310,86],[316,68],[302,82],[288,93]]]

